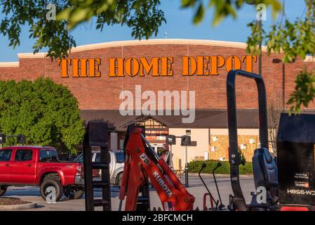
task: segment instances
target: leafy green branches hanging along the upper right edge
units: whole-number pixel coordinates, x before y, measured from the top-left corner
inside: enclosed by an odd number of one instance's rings
[[[304,18],[296,18],[293,22],[286,19],[285,12],[281,21],[272,25],[270,32],[266,32],[257,23],[248,24],[251,35],[247,41],[248,53],[260,54],[257,44],[264,41],[268,54],[283,53],[283,63],[291,63],[297,58],[315,55],[315,1],[304,0],[307,6]],[[260,33],[262,35],[260,35]],[[313,100],[315,93],[314,75],[304,70],[295,79],[295,91],[291,94],[288,104],[290,113],[300,113],[302,106],[307,107]]]

